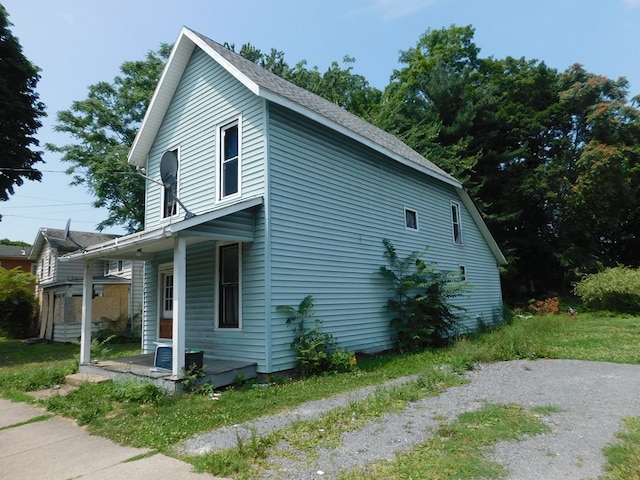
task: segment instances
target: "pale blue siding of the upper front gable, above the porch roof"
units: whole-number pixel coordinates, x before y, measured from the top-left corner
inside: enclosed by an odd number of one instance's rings
[[[216,131],[240,119],[243,197],[264,189],[264,101],[200,49],[195,49],[149,152],[147,176],[160,180],[162,154],[179,151],[178,196],[191,212],[203,214],[216,204]],[[147,182],[145,228],[168,222],[161,217],[162,186]],[[178,207],[176,218],[184,211]],[[175,221],[175,220],[172,220]]]

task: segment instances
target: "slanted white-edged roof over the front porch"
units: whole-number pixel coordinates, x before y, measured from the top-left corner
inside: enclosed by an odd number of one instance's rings
[[[253,241],[253,233],[246,231],[234,233],[216,233],[206,229],[199,229],[206,223],[219,218],[261,205],[261,195],[241,199],[217,210],[197,215],[175,223],[162,225],[142,232],[132,233],[111,241],[88,246],[60,257],[62,261],[93,260],[98,258],[150,260],[153,254],[173,248],[174,238],[178,235],[187,239],[187,244],[211,240],[237,240],[241,242]]]

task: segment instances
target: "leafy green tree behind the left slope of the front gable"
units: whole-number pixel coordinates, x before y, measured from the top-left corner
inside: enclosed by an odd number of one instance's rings
[[[93,205],[109,211],[98,230],[114,225],[129,233],[142,229],[144,179],[127,163],[127,155],[170,52],[171,46],[163,44],[144,60],[123,63],[112,83],[91,85],[85,100],[58,112],[56,131],[75,142],[47,148],[71,164],[72,185],[87,187]]]

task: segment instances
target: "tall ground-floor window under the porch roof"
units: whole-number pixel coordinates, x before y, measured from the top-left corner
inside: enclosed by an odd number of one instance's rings
[[[240,244],[218,247],[218,328],[240,328]]]

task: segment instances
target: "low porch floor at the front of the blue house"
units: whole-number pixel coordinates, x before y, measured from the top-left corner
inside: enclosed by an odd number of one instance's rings
[[[248,380],[257,377],[257,364],[233,360],[218,360],[211,357],[204,358],[205,376],[203,383],[210,382],[215,388],[231,385],[238,378]],[[175,377],[167,370],[154,367],[154,354],[132,355],[110,360],[94,361],[82,364],[80,373],[102,375],[112,379],[138,379],[155,383],[169,391],[181,391],[181,377]]]

